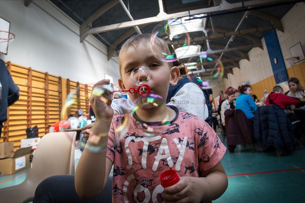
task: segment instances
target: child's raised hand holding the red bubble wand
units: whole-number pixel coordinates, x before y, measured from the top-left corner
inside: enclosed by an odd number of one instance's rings
[[[110,80],[97,82],[91,92],[89,101],[97,120],[111,120],[113,117],[113,109],[110,107],[112,101],[105,99],[105,97],[109,98],[112,93],[105,88],[105,85],[109,84],[109,82]]]

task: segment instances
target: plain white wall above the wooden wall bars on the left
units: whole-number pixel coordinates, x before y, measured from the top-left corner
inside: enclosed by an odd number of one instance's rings
[[[108,61],[106,47],[92,36],[80,43],[79,25],[52,2],[34,0],[26,7],[23,0],[0,0],[0,16],[16,35],[1,59],[89,85],[105,73],[117,82],[117,58]]]

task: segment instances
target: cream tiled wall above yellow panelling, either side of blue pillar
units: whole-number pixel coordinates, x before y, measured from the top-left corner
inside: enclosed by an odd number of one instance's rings
[[[289,48],[301,42],[305,50],[305,5],[297,3],[281,19],[284,33],[277,31],[278,41],[282,50],[286,68],[291,67],[286,58],[291,57]],[[270,59],[264,38],[261,40],[263,50],[256,47],[249,51],[250,61],[243,59],[239,61],[240,69],[233,68],[233,75],[228,74],[224,80],[224,87],[232,86],[237,88],[245,82],[252,85],[273,75]]]

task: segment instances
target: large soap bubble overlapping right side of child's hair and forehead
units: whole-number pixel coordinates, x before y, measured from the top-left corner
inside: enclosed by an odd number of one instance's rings
[[[180,19],[170,19],[158,24],[152,31],[152,38],[150,40],[150,48],[152,53],[162,61],[173,62],[181,58],[187,48],[176,54],[174,50],[170,53],[164,53],[156,43],[156,37],[159,37],[170,44],[182,44],[181,47],[188,47],[190,45],[190,37],[184,24]]]

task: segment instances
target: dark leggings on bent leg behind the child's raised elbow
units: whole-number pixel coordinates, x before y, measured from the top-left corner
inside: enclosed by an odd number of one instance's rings
[[[33,203],[50,203],[50,202],[111,203],[112,181],[111,183],[109,183],[108,181],[105,189],[101,192],[101,194],[99,194],[97,198],[85,201],[82,200],[75,191],[74,175],[57,175],[57,176],[48,177],[37,186]]]

